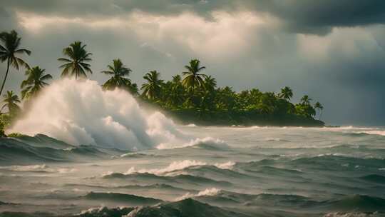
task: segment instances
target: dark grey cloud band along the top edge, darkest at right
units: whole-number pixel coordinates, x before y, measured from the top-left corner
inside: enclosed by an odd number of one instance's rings
[[[211,11],[257,11],[282,20],[287,31],[328,34],[333,27],[385,24],[382,0],[1,0],[4,7],[60,16],[118,16],[132,11],[175,15],[191,11],[210,19]]]

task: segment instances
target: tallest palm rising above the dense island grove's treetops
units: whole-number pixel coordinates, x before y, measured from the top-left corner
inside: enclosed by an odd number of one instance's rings
[[[190,61],[190,66],[185,66],[185,69],[188,71],[183,71],[182,74],[185,78],[182,81],[183,86],[192,90],[198,86],[203,86],[205,83],[202,77],[206,77],[205,74],[199,74],[200,71],[206,69],[205,66],[200,66],[200,61],[197,59],[193,59]]]

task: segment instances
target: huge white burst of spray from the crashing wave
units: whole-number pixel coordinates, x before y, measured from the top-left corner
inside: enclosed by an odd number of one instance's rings
[[[75,79],[48,86],[9,132],[128,150],[173,147],[190,139],[162,113],[140,109],[127,91],[103,91],[97,81]]]

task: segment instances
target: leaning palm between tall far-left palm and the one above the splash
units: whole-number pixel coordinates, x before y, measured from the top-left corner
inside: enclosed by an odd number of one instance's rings
[[[36,96],[44,86],[47,86],[46,81],[52,79],[50,74],[44,74],[45,69],[40,69],[39,66],[35,66],[32,69],[26,71],[27,79],[21,82],[20,88],[21,99],[29,99],[32,96]],[[24,89],[25,88],[25,89]]]

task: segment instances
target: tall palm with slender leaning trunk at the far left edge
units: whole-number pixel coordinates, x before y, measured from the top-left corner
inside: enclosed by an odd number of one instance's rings
[[[9,66],[14,66],[16,70],[20,69],[20,66],[24,66],[26,69],[29,69],[29,65],[26,62],[17,57],[16,54],[27,54],[31,55],[31,51],[27,49],[20,49],[21,38],[17,35],[17,32],[12,30],[11,32],[1,32],[0,34],[0,61],[6,61],[6,74],[4,76],[3,84],[1,84],[0,96],[3,92],[4,85],[6,83],[6,77],[9,73]]]

